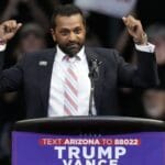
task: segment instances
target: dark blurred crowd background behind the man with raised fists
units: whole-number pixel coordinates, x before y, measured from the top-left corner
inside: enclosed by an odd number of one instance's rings
[[[23,26],[7,47],[4,68],[14,65],[23,54],[54,43],[50,33],[50,19],[54,8],[75,3],[87,19],[89,46],[117,48],[129,63],[136,63],[132,38],[121,18],[132,14],[141,20],[148,41],[156,45],[161,85],[154,89],[119,89],[122,116],[165,119],[165,16],[163,0],[0,0],[0,22],[15,19]],[[11,129],[24,119],[22,92],[0,95],[0,165],[10,165]]]

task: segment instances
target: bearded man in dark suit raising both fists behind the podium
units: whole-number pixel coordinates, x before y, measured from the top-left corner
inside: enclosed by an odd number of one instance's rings
[[[1,72],[0,91],[22,88],[26,118],[88,116],[89,75],[95,75],[91,113],[120,114],[119,86],[157,84],[154,46],[147,43],[141,22],[131,15],[123,18],[123,22],[139,50],[138,66],[127,64],[114,50],[84,46],[86,21],[77,7],[67,4],[56,8],[52,16],[51,31],[56,47],[26,54],[14,67]],[[11,38],[19,26],[15,22],[6,25],[1,41]]]

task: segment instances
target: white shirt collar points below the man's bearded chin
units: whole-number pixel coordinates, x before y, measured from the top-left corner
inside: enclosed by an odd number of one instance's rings
[[[62,62],[66,54],[59,48],[59,46],[57,45],[56,46],[56,61],[57,62]],[[78,52],[78,54],[76,55],[80,61],[84,61],[85,59],[85,46],[81,47],[81,50]]]

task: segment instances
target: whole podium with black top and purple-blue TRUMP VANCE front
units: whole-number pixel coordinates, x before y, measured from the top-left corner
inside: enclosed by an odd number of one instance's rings
[[[165,123],[120,117],[19,121],[12,165],[165,165]]]

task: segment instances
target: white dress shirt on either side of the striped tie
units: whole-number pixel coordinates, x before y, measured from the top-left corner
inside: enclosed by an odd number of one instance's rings
[[[51,90],[48,100],[48,117],[66,116],[64,112],[64,79],[65,72],[68,67],[68,62],[64,61],[66,55],[57,46],[55,61],[53,64]],[[76,116],[89,114],[89,96],[90,96],[90,79],[85,47],[80,50],[75,61],[75,70],[78,77],[78,113]],[[96,114],[95,105],[92,105],[92,113]]]

